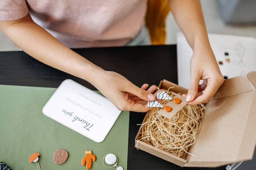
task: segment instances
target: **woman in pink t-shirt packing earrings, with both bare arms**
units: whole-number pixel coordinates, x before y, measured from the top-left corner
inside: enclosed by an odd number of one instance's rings
[[[169,5],[193,49],[186,100],[206,103],[223,77],[210,47],[200,1],[170,0]],[[0,0],[0,28],[33,58],[93,84],[118,109],[144,112],[149,110],[147,101],[155,99],[156,86],[139,88],[69,47],[146,44],[146,7],[146,0]],[[200,79],[204,80],[201,85]]]

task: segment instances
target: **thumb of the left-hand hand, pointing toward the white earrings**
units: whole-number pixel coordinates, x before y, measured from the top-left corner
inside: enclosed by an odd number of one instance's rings
[[[135,86],[132,83],[129,83],[126,91],[138,96],[139,98],[141,98],[143,100],[147,100],[147,101],[155,100],[155,96],[152,93],[150,93],[142,88],[139,88],[138,86]]]

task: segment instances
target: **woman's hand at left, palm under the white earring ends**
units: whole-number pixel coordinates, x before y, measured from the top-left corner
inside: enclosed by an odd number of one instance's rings
[[[101,70],[92,84],[101,93],[106,96],[118,110],[129,110],[136,112],[146,112],[150,110],[147,102],[155,99],[157,86],[153,85],[148,88],[148,84],[143,84],[141,88],[135,86],[124,76],[113,72]],[[146,89],[148,90],[146,91]],[[161,91],[161,90],[160,90]]]

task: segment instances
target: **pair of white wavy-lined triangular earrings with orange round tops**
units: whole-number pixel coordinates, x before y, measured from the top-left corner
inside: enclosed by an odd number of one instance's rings
[[[172,98],[167,94],[166,91],[161,91],[157,93],[157,99],[159,100],[173,100],[174,103],[180,104],[181,100],[179,98]],[[159,103],[157,100],[148,101],[147,107],[164,107],[165,111],[170,112],[172,111],[172,107],[164,106],[163,104]]]

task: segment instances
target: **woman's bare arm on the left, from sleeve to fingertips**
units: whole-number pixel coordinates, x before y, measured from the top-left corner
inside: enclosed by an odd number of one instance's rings
[[[146,91],[147,84],[139,88],[116,72],[102,70],[34,23],[29,14],[14,21],[0,21],[0,29],[33,58],[93,84],[119,110],[150,110],[147,101],[155,99],[152,93],[157,86]]]

